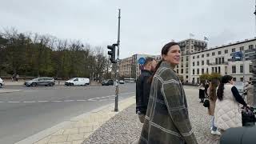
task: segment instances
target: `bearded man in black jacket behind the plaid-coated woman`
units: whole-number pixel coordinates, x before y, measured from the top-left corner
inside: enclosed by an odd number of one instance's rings
[[[154,68],[157,65],[157,62],[154,58],[146,58],[142,70],[142,74],[138,76],[136,82],[136,114],[140,122],[144,122],[146,115],[147,103],[149,102],[150,97],[150,76],[154,72]]]

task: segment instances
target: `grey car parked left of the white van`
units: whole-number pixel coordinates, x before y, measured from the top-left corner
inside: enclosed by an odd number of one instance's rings
[[[55,80],[54,78],[49,78],[49,77],[34,78],[30,81],[26,81],[24,85],[25,86],[54,86]]]

